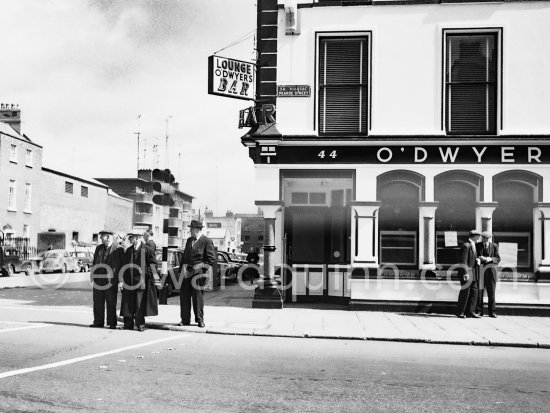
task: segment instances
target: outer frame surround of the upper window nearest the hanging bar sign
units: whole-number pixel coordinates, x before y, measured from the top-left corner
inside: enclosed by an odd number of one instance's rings
[[[321,77],[320,77],[320,58],[321,58],[321,40],[328,38],[365,38],[368,52],[368,68],[366,73],[365,85],[367,88],[367,103],[365,108],[366,126],[365,131],[357,133],[334,133],[334,132],[322,132],[321,131],[321,108],[320,108],[320,90],[321,90]],[[318,31],[315,32],[315,61],[314,61],[314,110],[313,110],[313,129],[318,136],[361,136],[367,137],[372,130],[372,31]]]

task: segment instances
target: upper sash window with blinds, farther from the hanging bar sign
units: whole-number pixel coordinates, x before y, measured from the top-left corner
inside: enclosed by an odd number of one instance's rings
[[[447,33],[445,127],[448,134],[497,133],[497,54],[497,33]]]

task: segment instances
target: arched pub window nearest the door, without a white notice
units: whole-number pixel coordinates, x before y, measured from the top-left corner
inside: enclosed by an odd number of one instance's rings
[[[411,171],[392,171],[377,178],[380,206],[380,262],[418,264],[418,203],[424,200],[424,177]]]

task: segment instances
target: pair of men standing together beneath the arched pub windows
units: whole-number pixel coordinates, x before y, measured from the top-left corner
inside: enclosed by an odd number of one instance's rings
[[[459,318],[483,316],[484,290],[487,290],[489,317],[497,317],[495,290],[500,255],[498,245],[491,239],[490,232],[472,230],[468,242],[462,244],[460,248],[458,277],[461,289],[456,308],[456,316]]]

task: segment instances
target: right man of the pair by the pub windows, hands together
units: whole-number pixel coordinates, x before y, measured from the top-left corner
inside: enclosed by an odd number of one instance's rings
[[[477,244],[477,255],[481,262],[479,271],[479,294],[477,299],[477,312],[483,315],[483,291],[487,290],[489,317],[496,318],[495,290],[497,287],[497,267],[500,262],[498,245],[491,242],[493,235],[490,232],[481,233],[481,242]]]

